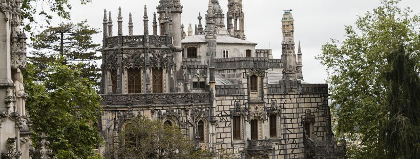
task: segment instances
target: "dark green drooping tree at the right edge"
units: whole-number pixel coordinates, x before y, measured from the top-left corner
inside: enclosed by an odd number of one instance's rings
[[[388,158],[420,156],[420,79],[416,61],[401,45],[388,57],[390,71],[386,73],[388,118],[383,139]]]

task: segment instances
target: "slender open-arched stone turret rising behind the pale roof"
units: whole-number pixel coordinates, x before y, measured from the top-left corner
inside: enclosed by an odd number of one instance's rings
[[[242,0],[229,0],[227,8],[227,30],[231,36],[245,40]]]

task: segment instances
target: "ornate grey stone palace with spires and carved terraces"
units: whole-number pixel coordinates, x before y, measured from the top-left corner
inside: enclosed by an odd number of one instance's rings
[[[122,34],[121,8],[113,35],[104,11],[100,152],[122,143],[125,125],[141,115],[179,126],[197,148],[236,158],[347,158],[345,141],[331,131],[328,85],[303,80],[291,10],[281,21],[281,59],[274,59],[280,52],[246,41],[242,0],[227,7],[225,16],[210,0],[205,26],[199,14],[185,33],[180,0],[161,0],[153,33],[144,7],[143,35],[133,35],[131,14],[129,35]]]

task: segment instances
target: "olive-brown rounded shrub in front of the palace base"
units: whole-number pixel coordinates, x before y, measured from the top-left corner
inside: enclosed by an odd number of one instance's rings
[[[130,119],[123,127],[122,144],[111,149],[124,158],[210,158],[208,150],[195,150],[178,126],[144,117]],[[110,154],[111,154],[110,153]]]

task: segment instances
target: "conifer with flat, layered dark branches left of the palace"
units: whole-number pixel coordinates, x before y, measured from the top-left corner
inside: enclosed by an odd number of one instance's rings
[[[79,67],[81,77],[89,78],[98,86],[100,68],[95,60],[99,60],[100,57],[95,54],[100,44],[92,41],[92,35],[98,33],[98,30],[90,28],[86,22],[85,20],[77,24],[61,23],[56,27],[49,26],[35,36],[31,45],[35,50],[31,52],[33,57],[30,57],[30,61],[39,68],[35,74],[39,80],[44,80],[47,63],[59,59],[62,64]],[[73,63],[81,64],[72,65]]]

